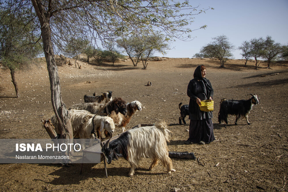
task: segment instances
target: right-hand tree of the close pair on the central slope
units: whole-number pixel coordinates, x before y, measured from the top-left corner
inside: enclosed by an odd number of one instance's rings
[[[141,52],[141,60],[143,64],[143,69],[147,69],[147,59],[155,52],[159,52],[164,54],[165,50],[169,48],[168,44],[164,42],[164,38],[162,35],[149,35],[144,37],[145,40],[142,41],[142,52]]]

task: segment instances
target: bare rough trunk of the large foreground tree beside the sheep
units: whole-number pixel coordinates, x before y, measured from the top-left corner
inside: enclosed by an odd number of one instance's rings
[[[59,138],[73,139],[73,130],[70,121],[70,114],[66,108],[61,96],[60,79],[58,76],[58,67],[56,65],[53,45],[51,41],[50,13],[46,13],[41,0],[31,0],[33,7],[41,25],[41,36],[43,41],[43,50],[47,62],[47,69],[50,80],[51,101],[54,113],[59,124],[62,127]],[[50,1],[49,1],[50,2]],[[49,6],[51,6],[49,4]],[[50,10],[49,7],[48,10]]]

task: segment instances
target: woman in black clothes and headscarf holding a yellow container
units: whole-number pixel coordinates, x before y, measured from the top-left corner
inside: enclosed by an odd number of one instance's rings
[[[189,138],[185,144],[189,143],[210,143],[215,140],[212,123],[212,111],[204,112],[200,110],[201,100],[212,101],[213,88],[206,76],[206,67],[199,65],[194,71],[192,79],[187,87],[189,101],[190,129]]]

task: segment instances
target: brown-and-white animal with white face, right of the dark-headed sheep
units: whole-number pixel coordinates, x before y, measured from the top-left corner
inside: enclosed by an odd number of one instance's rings
[[[129,123],[132,115],[136,111],[142,110],[142,104],[139,101],[132,101],[131,103],[127,103],[127,114],[123,115],[122,113],[118,113],[118,115],[115,114],[115,112],[112,112],[110,117],[113,119],[115,128],[122,128],[122,132],[125,131],[125,126]],[[106,138],[108,138],[110,135],[107,131],[104,132]]]

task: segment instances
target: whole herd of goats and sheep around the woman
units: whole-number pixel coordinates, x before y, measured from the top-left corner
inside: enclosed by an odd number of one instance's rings
[[[252,97],[248,100],[228,100],[222,99],[220,110],[218,113],[218,121],[225,121],[228,124],[228,114],[236,115],[235,125],[240,117],[245,117],[248,125],[248,114],[253,105],[259,104],[257,95],[250,94]],[[105,100],[105,104],[101,104]],[[181,106],[179,124],[185,123],[185,116],[189,115],[188,105]],[[132,115],[136,111],[142,110],[142,104],[139,101],[126,103],[122,98],[117,97],[112,99],[112,92],[107,91],[100,96],[84,96],[84,103],[74,104],[69,108],[71,125],[73,128],[74,138],[98,138],[103,140],[101,132],[104,130],[106,138],[109,140],[105,146],[101,143],[102,151],[106,156],[108,164],[112,160],[117,160],[119,157],[124,157],[130,165],[131,169],[129,176],[134,175],[134,170],[139,166],[139,161],[146,157],[151,158],[152,163],[149,169],[153,169],[159,161],[164,167],[167,167],[167,172],[175,172],[172,161],[168,156],[167,141],[170,139],[170,131],[165,121],[160,121],[154,126],[145,126],[140,128],[130,129],[126,132],[125,126],[129,123]],[[51,122],[54,125],[57,134],[60,133],[60,124],[56,116],[51,117]],[[122,134],[119,138],[110,142],[112,133],[115,128],[121,128]],[[97,136],[96,136],[97,133]]]

